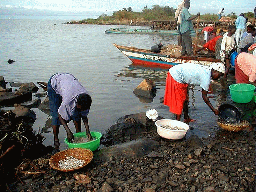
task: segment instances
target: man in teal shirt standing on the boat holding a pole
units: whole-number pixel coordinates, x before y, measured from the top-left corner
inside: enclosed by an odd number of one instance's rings
[[[190,7],[189,0],[185,0],[184,8],[182,9],[182,12],[181,12],[181,25],[180,25],[181,37],[182,37],[181,54],[182,56],[197,57],[196,55],[193,54],[193,51],[192,51],[192,39],[191,39],[190,31],[194,30],[192,20],[200,16],[200,13],[197,13],[196,16],[191,17],[189,13],[189,7]]]

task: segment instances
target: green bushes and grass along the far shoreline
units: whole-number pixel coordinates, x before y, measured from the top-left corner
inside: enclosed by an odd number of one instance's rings
[[[122,10],[115,11],[112,16],[108,16],[102,13],[97,19],[83,19],[81,22],[86,22],[88,24],[99,24],[99,23],[127,23],[127,22],[141,22],[150,20],[174,20],[176,8],[169,6],[159,6],[153,5],[151,9],[145,6],[142,12],[133,12],[131,7],[123,8]],[[253,18],[253,13],[244,13],[244,16],[248,19]],[[237,18],[236,13],[231,12],[227,15],[233,19]],[[218,21],[217,14],[207,13],[200,15],[200,20],[204,21]],[[72,21],[75,23],[75,21]],[[77,21],[76,21],[77,22]]]

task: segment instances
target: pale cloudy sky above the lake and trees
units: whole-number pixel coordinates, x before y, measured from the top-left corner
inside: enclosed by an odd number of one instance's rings
[[[0,0],[0,15],[94,15],[102,13],[112,15],[113,11],[131,7],[133,11],[141,12],[147,5],[170,6],[176,8],[181,0]],[[227,15],[235,12],[237,15],[248,11],[254,12],[255,0],[191,0],[189,12],[217,14],[220,8],[225,8]],[[87,19],[87,18],[85,18]]]

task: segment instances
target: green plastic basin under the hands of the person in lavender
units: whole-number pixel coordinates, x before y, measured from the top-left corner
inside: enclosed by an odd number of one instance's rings
[[[91,151],[96,150],[100,146],[100,140],[101,140],[101,133],[96,132],[96,131],[91,131],[93,138],[97,138],[93,141],[89,141],[86,143],[70,143],[67,141],[67,138],[64,140],[64,142],[67,144],[68,148],[75,148],[75,147],[80,147],[80,148],[85,148],[85,149],[90,149]],[[86,132],[81,132],[81,133],[75,133],[74,137],[77,136],[87,136]]]

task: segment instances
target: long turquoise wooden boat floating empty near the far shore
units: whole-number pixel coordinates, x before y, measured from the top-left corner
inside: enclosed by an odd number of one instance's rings
[[[202,29],[201,29],[202,30]],[[105,31],[105,33],[114,34],[162,34],[162,35],[178,35],[178,30],[155,30],[155,29],[128,29],[128,28],[115,28],[112,27]],[[191,32],[195,35],[196,32]]]

